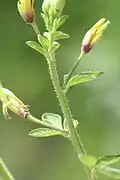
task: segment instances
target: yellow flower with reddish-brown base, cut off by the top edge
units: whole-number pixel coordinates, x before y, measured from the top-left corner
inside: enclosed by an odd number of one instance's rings
[[[18,11],[27,23],[33,23],[35,19],[34,0],[19,0]]]

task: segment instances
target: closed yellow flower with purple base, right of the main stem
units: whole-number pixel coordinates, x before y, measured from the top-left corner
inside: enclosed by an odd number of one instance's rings
[[[102,37],[110,21],[105,18],[100,19],[84,36],[81,50],[88,53],[93,45]]]

